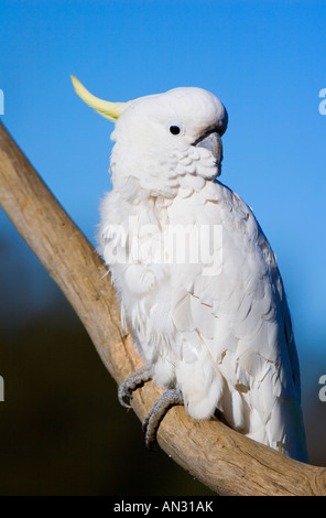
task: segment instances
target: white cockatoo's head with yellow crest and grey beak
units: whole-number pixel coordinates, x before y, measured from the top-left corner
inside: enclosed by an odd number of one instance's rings
[[[175,188],[200,188],[220,174],[221,136],[228,116],[203,88],[174,88],[128,102],[109,102],[89,94],[72,77],[76,93],[116,122],[111,157],[113,185],[137,180],[151,193],[173,196]]]

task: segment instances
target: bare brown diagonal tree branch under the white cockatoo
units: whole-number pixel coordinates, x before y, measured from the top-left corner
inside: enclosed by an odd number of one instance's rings
[[[84,323],[107,369],[120,384],[142,365],[108,270],[0,123],[0,203]],[[162,392],[152,382],[132,407],[142,420]],[[230,430],[171,409],[159,443],[186,471],[221,495],[326,495],[326,468],[298,463]]]

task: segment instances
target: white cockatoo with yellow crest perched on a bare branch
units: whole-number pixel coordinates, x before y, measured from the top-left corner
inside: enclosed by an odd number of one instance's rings
[[[128,102],[76,93],[116,122],[100,251],[122,322],[162,397],[145,418],[155,439],[171,404],[216,413],[235,430],[307,461],[300,370],[275,256],[252,209],[216,177],[227,111],[209,91],[175,88]]]

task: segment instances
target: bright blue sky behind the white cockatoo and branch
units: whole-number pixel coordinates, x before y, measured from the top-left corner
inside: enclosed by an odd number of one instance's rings
[[[108,100],[177,86],[221,99],[221,181],[253,208],[276,253],[303,382],[317,387],[312,365],[326,373],[326,2],[1,0],[0,17],[1,120],[91,241],[110,188],[113,126],[82,102],[69,75]],[[41,276],[2,213],[0,227],[12,250],[2,282],[17,278],[17,253]],[[29,304],[44,304],[42,279],[30,283]]]

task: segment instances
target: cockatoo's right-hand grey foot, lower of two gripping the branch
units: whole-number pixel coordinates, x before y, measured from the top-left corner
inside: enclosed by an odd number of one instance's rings
[[[145,432],[145,443],[149,450],[157,450],[156,433],[160,422],[167,410],[175,404],[184,404],[182,391],[177,389],[165,390],[144,417],[142,427]]]

